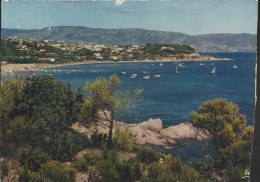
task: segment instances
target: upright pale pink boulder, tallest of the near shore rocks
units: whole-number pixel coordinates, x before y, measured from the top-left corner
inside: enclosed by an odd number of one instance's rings
[[[143,129],[151,130],[156,133],[160,133],[160,130],[163,129],[161,119],[149,119],[148,121],[139,123],[137,126]]]

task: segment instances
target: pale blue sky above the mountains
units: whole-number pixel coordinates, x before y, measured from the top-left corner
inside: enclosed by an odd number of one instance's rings
[[[257,32],[253,0],[2,2],[2,28],[142,28],[189,35]]]

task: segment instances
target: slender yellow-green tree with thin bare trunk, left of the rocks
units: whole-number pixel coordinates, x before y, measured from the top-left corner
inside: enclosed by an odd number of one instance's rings
[[[130,103],[129,94],[118,91],[121,81],[114,74],[108,79],[100,78],[94,83],[87,82],[85,91],[88,98],[82,107],[83,123],[95,123],[109,127],[108,148],[112,148],[114,115],[122,112]],[[136,92],[137,93],[137,92]]]

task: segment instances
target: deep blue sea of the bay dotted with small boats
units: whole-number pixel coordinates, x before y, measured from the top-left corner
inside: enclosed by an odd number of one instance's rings
[[[126,123],[140,123],[150,118],[160,118],[163,127],[189,122],[190,113],[197,112],[205,101],[225,98],[239,106],[239,112],[246,115],[247,125],[254,126],[256,52],[200,53],[215,58],[229,58],[231,61],[154,62],[154,63],[97,63],[48,68],[37,72],[19,73],[24,77],[32,75],[53,75],[55,80],[70,82],[73,89],[81,88],[86,82],[108,78],[117,74],[122,82],[121,92],[144,92],[116,120]],[[178,66],[179,74],[176,74]],[[215,74],[210,72],[215,67]],[[137,74],[131,78],[131,74]],[[150,79],[144,79],[144,76]],[[156,77],[154,75],[160,75]],[[2,76],[2,80],[14,75]],[[184,162],[202,159],[206,153],[214,153],[207,142],[185,140],[176,150],[162,153],[180,155]]]

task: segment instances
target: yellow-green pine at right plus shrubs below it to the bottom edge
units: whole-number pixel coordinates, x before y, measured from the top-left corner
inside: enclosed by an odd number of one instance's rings
[[[236,104],[225,99],[207,101],[199,112],[191,113],[192,124],[207,129],[213,135],[218,155],[207,157],[208,174],[228,181],[243,181],[249,170],[254,129],[246,127],[245,116]]]

